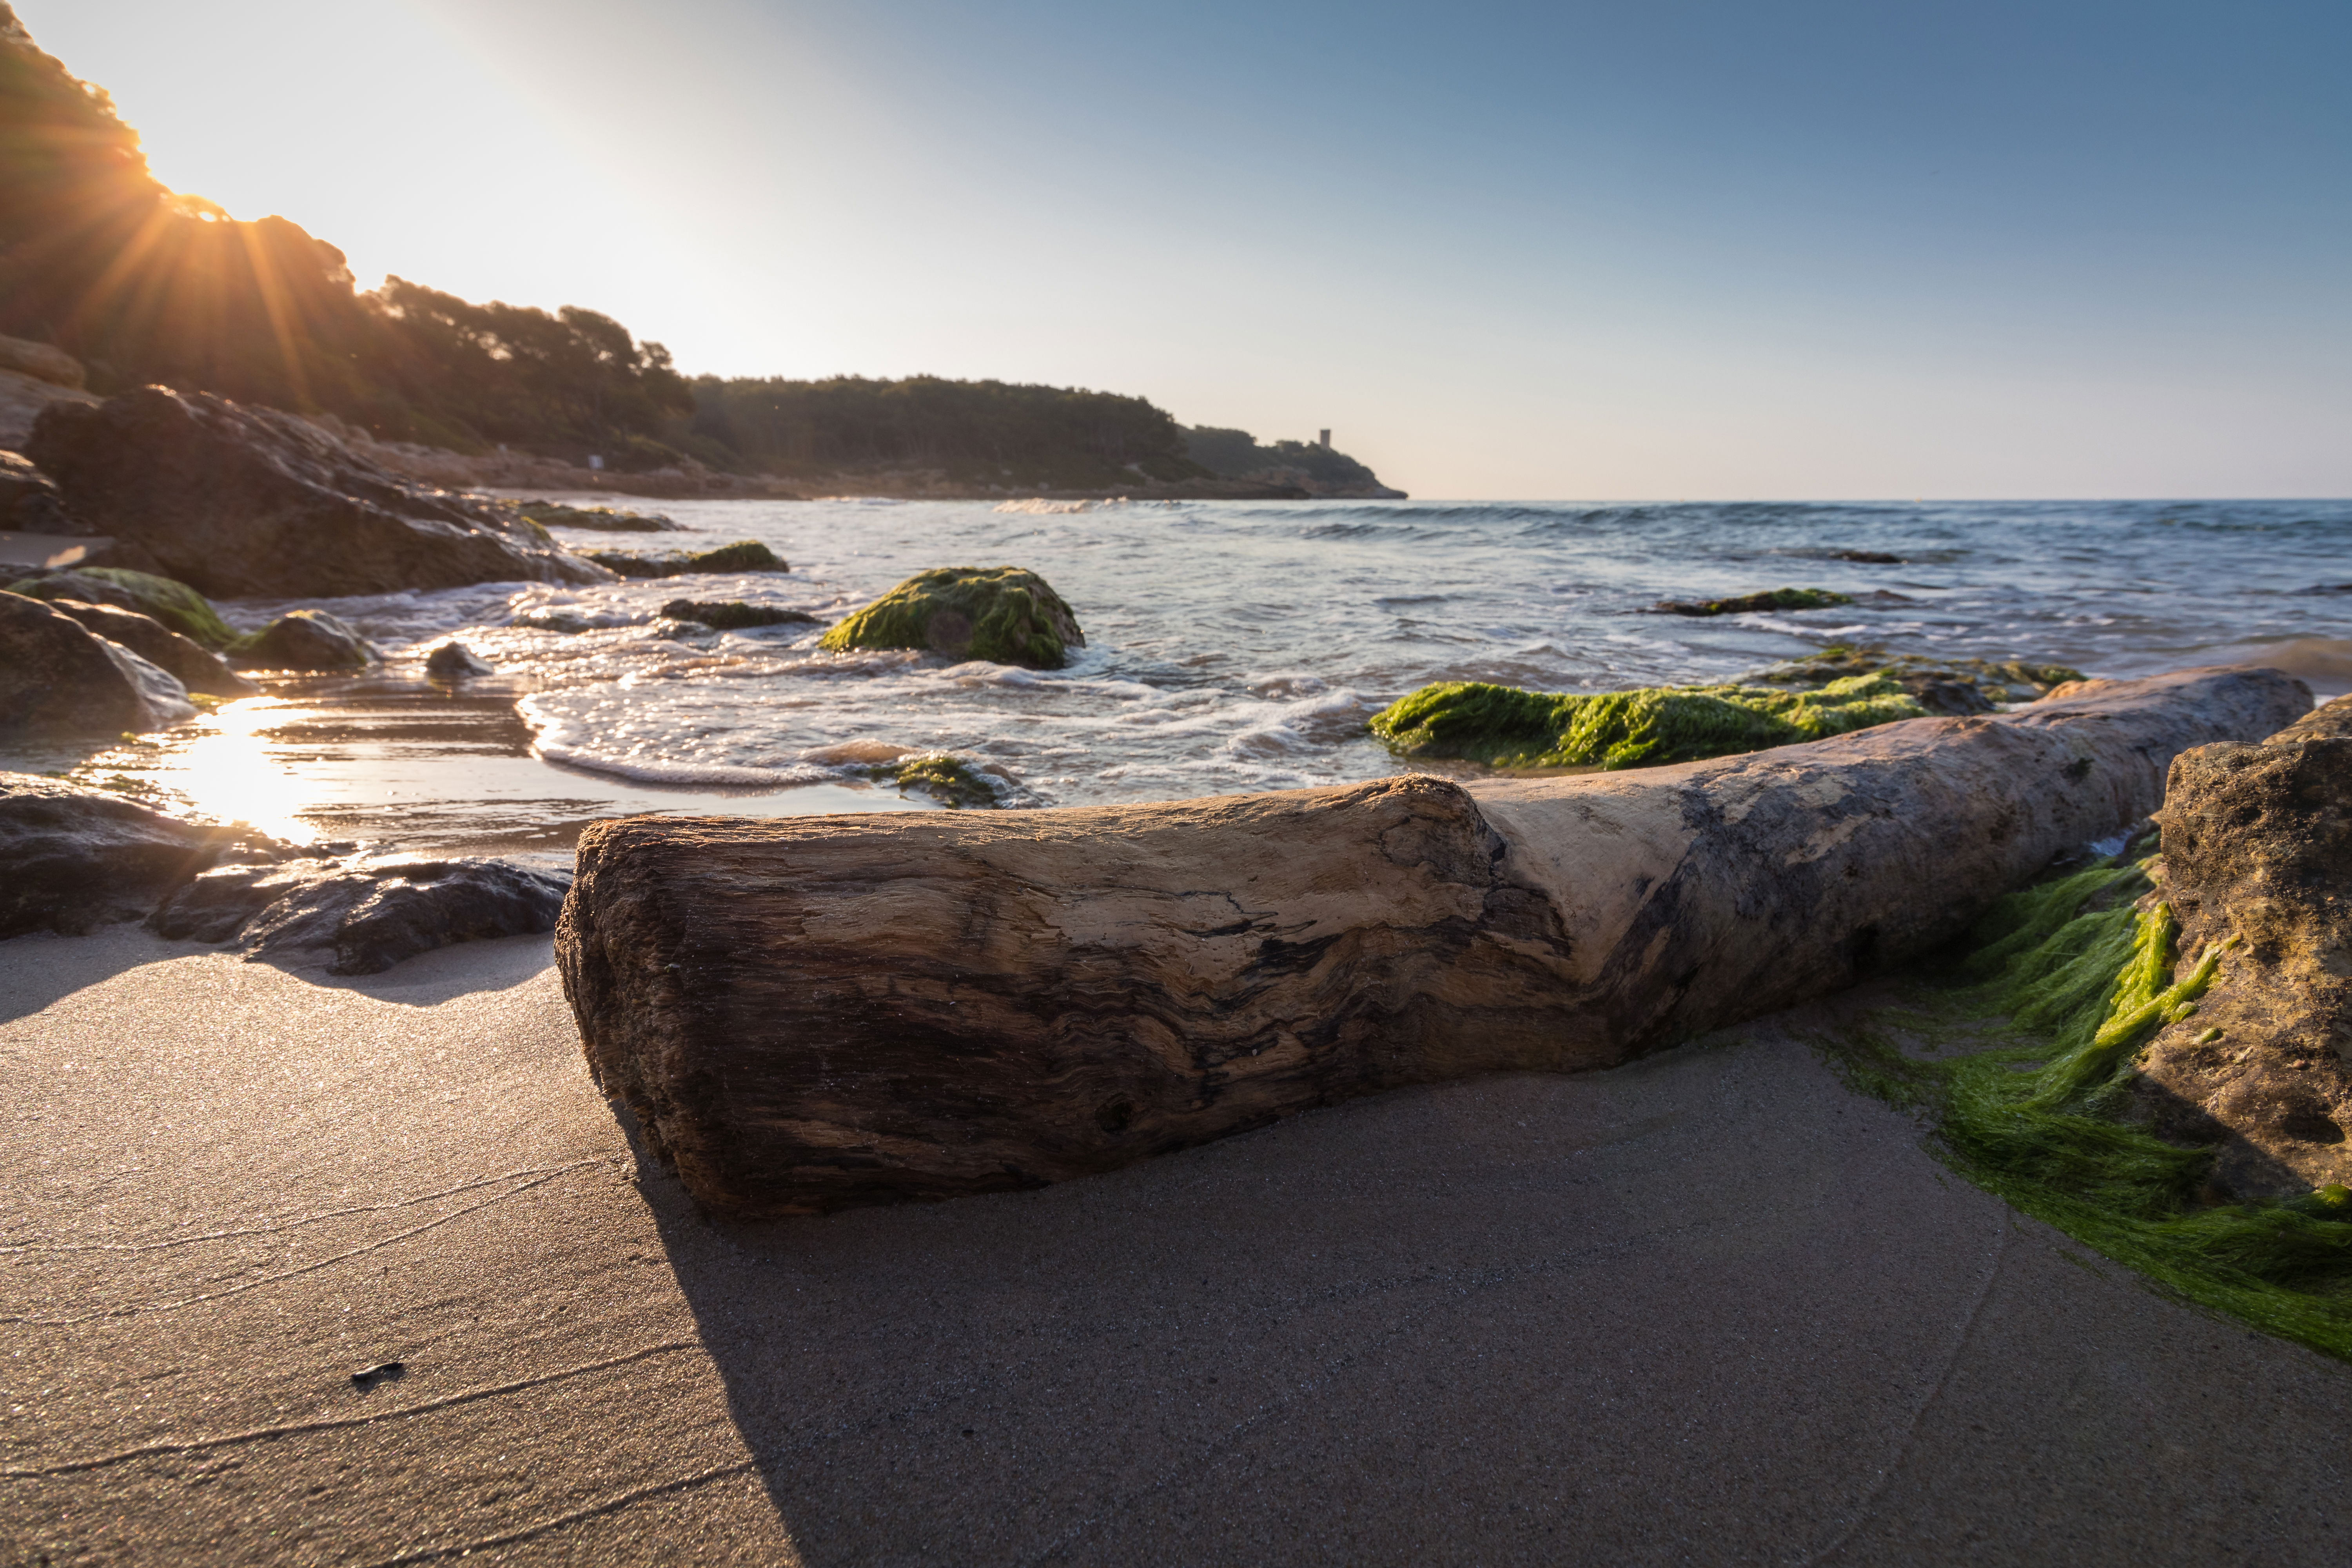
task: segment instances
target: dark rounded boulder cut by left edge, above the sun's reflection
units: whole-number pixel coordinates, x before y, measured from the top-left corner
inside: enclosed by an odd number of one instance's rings
[[[40,599],[0,592],[0,736],[103,736],[193,715],[165,670]]]

